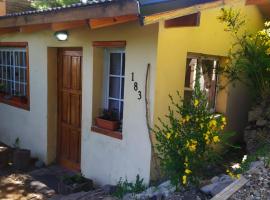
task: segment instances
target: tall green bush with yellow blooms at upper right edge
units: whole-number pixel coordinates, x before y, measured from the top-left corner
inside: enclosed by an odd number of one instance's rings
[[[254,97],[267,97],[270,93],[270,23],[255,33],[244,29],[246,19],[240,11],[222,9],[218,19],[226,25],[225,31],[234,40],[228,60],[221,70],[230,82],[246,84]]]

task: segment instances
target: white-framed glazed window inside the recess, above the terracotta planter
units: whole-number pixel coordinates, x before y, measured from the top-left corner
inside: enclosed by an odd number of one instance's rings
[[[105,94],[104,107],[117,113],[123,119],[125,52],[120,49],[105,49]]]

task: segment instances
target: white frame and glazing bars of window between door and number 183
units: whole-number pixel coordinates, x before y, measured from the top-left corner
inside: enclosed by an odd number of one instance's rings
[[[104,84],[103,84],[103,107],[105,109],[108,109],[109,108],[109,100],[115,100],[115,101],[119,101],[120,105],[119,105],[119,109],[118,109],[118,112],[119,112],[119,115],[121,114],[121,102],[124,104],[124,98],[121,99],[121,90],[122,90],[122,79],[124,78],[124,82],[125,82],[125,75],[111,75],[110,74],[110,54],[111,53],[121,53],[121,54],[126,54],[126,51],[125,51],[125,48],[105,48],[105,56],[104,56],[104,77],[103,77],[103,81],[104,81]],[[120,72],[122,73],[122,67],[123,67],[123,57],[121,55],[121,69],[120,69]],[[110,93],[110,78],[111,77],[117,77],[120,79],[120,99],[116,99],[116,98],[111,98],[109,96],[109,93]],[[125,90],[125,89],[124,89]],[[124,105],[123,105],[124,107]],[[123,108],[124,110],[124,108]],[[120,116],[120,120],[121,119],[121,116]]]

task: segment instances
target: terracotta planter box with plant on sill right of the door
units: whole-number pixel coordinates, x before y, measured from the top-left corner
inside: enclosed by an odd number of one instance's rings
[[[116,131],[120,127],[118,113],[114,110],[103,110],[103,114],[96,118],[96,125],[100,128]]]

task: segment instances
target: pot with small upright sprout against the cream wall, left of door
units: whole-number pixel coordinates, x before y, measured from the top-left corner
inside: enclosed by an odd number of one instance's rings
[[[13,166],[17,170],[27,170],[30,163],[31,152],[28,149],[20,148],[20,139],[16,138],[13,144]]]

